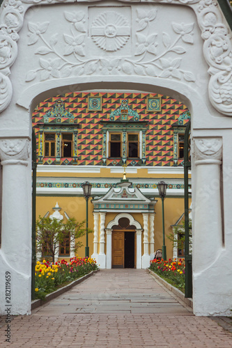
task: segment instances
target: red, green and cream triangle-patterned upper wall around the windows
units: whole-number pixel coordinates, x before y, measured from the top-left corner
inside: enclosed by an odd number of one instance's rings
[[[88,97],[102,97],[102,111],[88,111]],[[162,109],[147,112],[147,97],[162,98]],[[41,123],[45,114],[52,110],[57,100],[62,100],[65,110],[75,116],[79,125],[77,142],[77,165],[102,165],[106,149],[103,146],[102,120],[108,120],[111,113],[121,106],[123,100],[132,111],[139,114],[140,121],[148,121],[146,131],[146,166],[173,166],[173,125],[187,113],[187,106],[165,95],[155,93],[67,93],[41,102],[33,113],[33,125]],[[118,116],[120,118],[120,116]],[[183,120],[184,124],[187,120]],[[39,127],[36,127],[38,138]],[[68,159],[72,164],[72,159]],[[105,159],[106,161],[106,159]],[[127,166],[141,166],[141,159],[127,161]],[[181,160],[182,161],[182,160]],[[178,166],[181,165],[178,160]],[[61,158],[61,165],[67,161]],[[43,159],[44,164],[54,164],[54,159]],[[122,166],[122,160],[108,160],[107,166]]]

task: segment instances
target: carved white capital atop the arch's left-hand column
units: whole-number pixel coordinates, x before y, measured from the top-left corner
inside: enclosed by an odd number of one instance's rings
[[[1,161],[20,160],[28,161],[30,155],[29,139],[0,140]]]

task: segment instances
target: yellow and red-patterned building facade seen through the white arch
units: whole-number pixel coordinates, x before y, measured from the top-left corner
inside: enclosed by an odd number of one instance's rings
[[[59,211],[86,219],[89,254],[101,268],[146,268],[162,248],[162,202],[157,184],[167,182],[167,235],[184,212],[183,134],[187,107],[171,96],[121,91],[58,95],[33,112],[38,155],[36,215]],[[123,169],[125,168],[125,169]],[[124,180],[123,180],[123,171]],[[86,239],[82,243],[86,246]],[[84,256],[84,246],[78,255]],[[60,248],[56,259],[72,256]]]

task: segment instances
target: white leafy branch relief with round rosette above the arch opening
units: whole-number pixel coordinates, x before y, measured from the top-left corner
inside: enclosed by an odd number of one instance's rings
[[[111,52],[112,57],[86,58],[86,14],[83,11],[69,13],[65,11],[65,19],[70,23],[70,33],[63,33],[65,42],[64,53],[56,49],[58,35],[54,34],[49,40],[45,33],[49,31],[49,22],[28,24],[28,45],[41,42],[43,46],[36,49],[35,54],[40,56],[40,67],[30,70],[26,81],[33,81],[39,76],[40,81],[52,78],[68,77],[70,74],[138,74],[141,76],[171,78],[194,82],[191,71],[184,70],[181,65],[182,57],[187,52],[187,45],[194,44],[194,23],[172,22],[169,32],[154,33],[157,10],[146,11],[137,8],[137,26],[134,30],[136,45],[132,58],[123,56],[114,57],[114,52],[120,51],[127,45],[132,31],[129,19],[121,13],[103,10],[96,15],[91,25],[91,39],[103,52]],[[153,23],[154,22],[154,23]],[[158,44],[158,36],[162,36],[162,45]],[[173,39],[174,35],[174,39]],[[172,52],[176,58],[167,57]],[[42,58],[41,56],[47,56]]]

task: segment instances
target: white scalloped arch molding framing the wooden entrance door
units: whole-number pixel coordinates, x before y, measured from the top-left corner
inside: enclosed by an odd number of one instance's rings
[[[126,218],[130,221],[130,226],[135,226],[136,232],[136,268],[141,269],[141,232],[142,228],[139,221],[134,220],[134,217],[129,213],[120,213],[115,216],[114,220],[109,221],[106,232],[107,232],[107,269],[111,269],[112,260],[112,228],[118,225],[118,221],[121,218]]]

